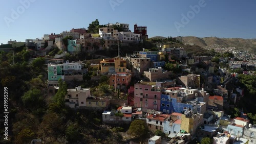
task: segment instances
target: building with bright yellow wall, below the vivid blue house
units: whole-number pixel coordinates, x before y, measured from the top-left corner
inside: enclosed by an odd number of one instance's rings
[[[198,126],[203,124],[203,114],[193,114],[191,111],[186,111],[181,116],[181,132],[196,135]]]

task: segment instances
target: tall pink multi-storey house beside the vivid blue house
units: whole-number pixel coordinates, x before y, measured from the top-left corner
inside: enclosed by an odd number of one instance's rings
[[[139,82],[134,85],[135,107],[160,111],[161,91],[164,87],[156,82]]]

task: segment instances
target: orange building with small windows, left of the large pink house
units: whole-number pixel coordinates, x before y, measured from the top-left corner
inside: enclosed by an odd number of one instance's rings
[[[127,86],[130,85],[132,75],[129,73],[116,73],[110,77],[110,85],[116,89],[127,90]]]

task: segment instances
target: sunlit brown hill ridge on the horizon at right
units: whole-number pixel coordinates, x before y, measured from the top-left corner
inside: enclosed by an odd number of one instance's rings
[[[204,47],[208,45],[223,45],[226,47],[237,47],[244,50],[256,51],[256,39],[243,39],[243,38],[218,38],[218,37],[204,37],[199,38],[195,36],[176,37],[177,40],[183,43],[194,43],[195,45]]]

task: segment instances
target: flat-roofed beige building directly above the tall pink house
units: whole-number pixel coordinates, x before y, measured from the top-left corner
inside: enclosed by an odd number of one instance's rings
[[[163,68],[150,68],[148,71],[144,71],[145,81],[162,81],[169,78],[172,71],[163,70]]]

